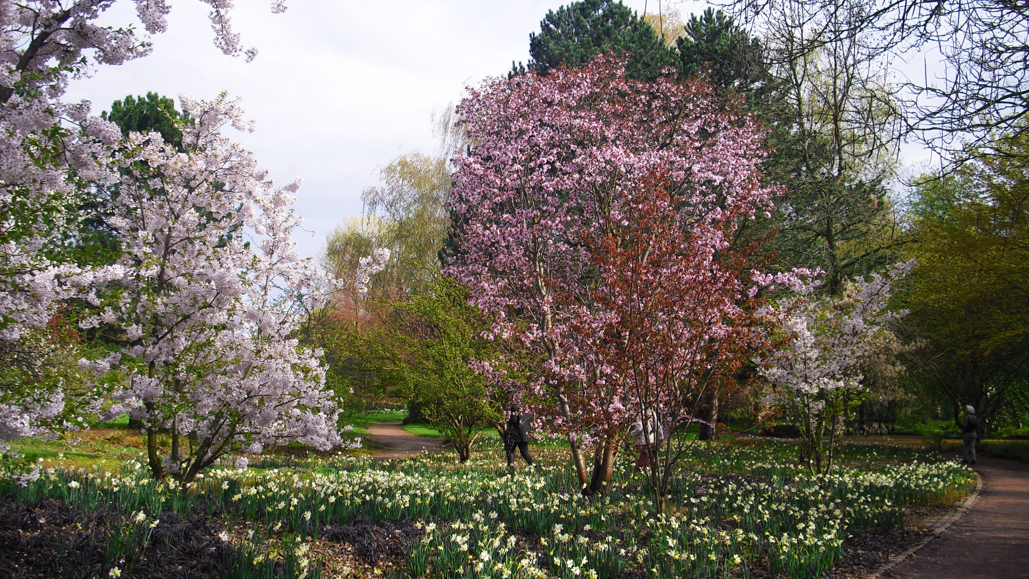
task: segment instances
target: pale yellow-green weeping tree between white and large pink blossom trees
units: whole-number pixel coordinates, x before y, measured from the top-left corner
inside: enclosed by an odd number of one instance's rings
[[[431,293],[449,223],[443,207],[451,179],[443,158],[402,155],[380,169],[379,181],[361,196],[363,214],[344,220],[326,240],[322,265],[336,290],[309,328],[309,339],[325,352],[327,383],[346,408],[357,411],[410,398],[411,336],[401,331],[396,305]],[[389,258],[364,281],[369,258],[384,249]]]

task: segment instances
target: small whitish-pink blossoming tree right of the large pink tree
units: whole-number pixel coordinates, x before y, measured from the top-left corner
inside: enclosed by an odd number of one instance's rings
[[[784,339],[755,362],[778,388],[780,404],[801,422],[802,459],[814,475],[832,469],[844,419],[861,390],[863,356],[886,323],[907,314],[891,311],[889,301],[893,284],[914,265],[902,262],[871,279],[857,278],[839,297],[818,298],[819,282],[812,278],[765,312],[777,318]]]

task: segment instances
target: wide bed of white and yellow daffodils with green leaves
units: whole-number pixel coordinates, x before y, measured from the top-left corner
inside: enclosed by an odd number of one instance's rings
[[[631,458],[619,461],[600,498],[576,491],[556,449],[537,469],[513,473],[502,457],[459,465],[449,455],[406,461],[335,456],[256,461],[212,469],[196,482],[155,482],[137,461],[119,473],[51,468],[20,501],[51,498],[75,509],[120,514],[108,527],[110,576],[131,571],[162,514],[217,518],[224,577],[329,577],[345,574],[319,556],[326,530],[349,520],[413,521],[406,569],[389,574],[440,578],[614,579],[648,577],[817,577],[849,537],[904,524],[904,508],[962,499],[974,475],[956,463],[882,449],[850,449],[820,479],[805,475],[792,447],[699,445],[671,492],[670,512],[653,503]],[[380,570],[376,570],[380,572]],[[637,575],[638,576],[638,575]]]

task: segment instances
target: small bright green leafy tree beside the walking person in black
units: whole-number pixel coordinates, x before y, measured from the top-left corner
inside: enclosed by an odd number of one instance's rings
[[[454,443],[462,463],[483,430],[503,419],[501,402],[469,368],[473,361],[495,359],[496,346],[481,337],[489,322],[467,301],[466,288],[440,277],[429,291],[393,304],[400,319],[397,341],[406,363],[409,397]]]

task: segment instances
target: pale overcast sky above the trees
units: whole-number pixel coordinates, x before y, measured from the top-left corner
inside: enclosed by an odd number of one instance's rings
[[[527,61],[529,33],[567,0],[288,0],[273,14],[270,0],[239,0],[233,23],[250,63],[212,43],[208,6],[172,0],[168,32],[153,53],[121,66],[102,66],[74,80],[68,100],[87,99],[94,113],[126,95],[154,91],[211,99],[221,91],[243,99],[256,120],[252,134],[227,129],[285,183],[305,180],[297,210],[317,235],[298,236],[317,256],[346,216],[360,214],[361,191],[376,170],[414,149],[434,151],[433,110],[463,88],[505,74]],[[643,13],[655,1],[624,0]],[[678,3],[683,18],[705,3]],[[103,22],[137,23],[134,2],[116,2]]]

